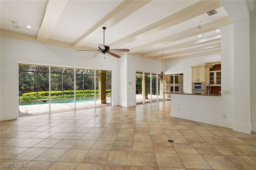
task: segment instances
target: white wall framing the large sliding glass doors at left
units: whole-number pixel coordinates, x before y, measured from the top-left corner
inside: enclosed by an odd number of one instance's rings
[[[18,117],[17,62],[112,70],[113,87],[117,87],[113,88],[112,96],[114,105],[117,105],[118,59],[110,55],[106,55],[106,59],[104,55],[92,59],[93,55],[95,53],[1,37],[1,121]]]

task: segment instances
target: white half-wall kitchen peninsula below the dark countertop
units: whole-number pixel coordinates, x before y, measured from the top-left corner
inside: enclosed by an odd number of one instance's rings
[[[220,94],[172,93],[171,96],[171,117],[221,127],[230,127],[232,123],[223,113],[223,101]]]

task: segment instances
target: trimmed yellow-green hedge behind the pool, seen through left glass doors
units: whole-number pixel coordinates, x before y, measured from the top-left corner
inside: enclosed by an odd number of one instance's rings
[[[106,95],[110,95],[111,90],[106,90]],[[99,95],[99,91],[96,90],[96,96]],[[88,97],[94,97],[94,90],[84,90],[84,93],[82,90],[76,91],[76,99],[79,98],[88,98]],[[51,91],[51,99],[66,99],[66,98],[74,98],[74,90],[70,91]],[[34,101],[34,100],[48,100],[49,99],[49,92],[48,91],[39,91],[38,95],[36,95],[36,92],[28,92],[24,93],[22,96],[19,97],[19,102],[25,102],[25,101]]]

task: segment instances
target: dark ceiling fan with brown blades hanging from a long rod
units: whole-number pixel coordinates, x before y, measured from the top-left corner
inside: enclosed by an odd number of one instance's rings
[[[109,46],[105,45],[105,30],[106,30],[106,27],[102,27],[103,29],[103,45],[102,44],[98,44],[98,48],[99,49],[88,49],[88,50],[76,50],[76,51],[100,51],[98,52],[96,55],[94,55],[92,58],[96,57],[97,55],[99,55],[100,53],[108,53],[116,58],[120,58],[119,55],[115,54],[115,53],[112,53],[110,51],[118,51],[118,52],[128,52],[130,51],[129,49],[110,49]]]

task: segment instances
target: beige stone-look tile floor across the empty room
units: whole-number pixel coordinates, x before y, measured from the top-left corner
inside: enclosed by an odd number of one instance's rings
[[[2,121],[0,169],[256,169],[256,133],[170,117],[170,105],[110,106]]]

